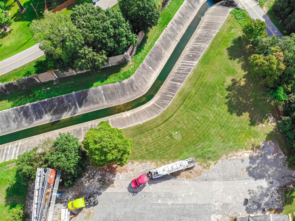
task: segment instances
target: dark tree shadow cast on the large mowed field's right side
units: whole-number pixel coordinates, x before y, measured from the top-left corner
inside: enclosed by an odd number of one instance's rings
[[[238,117],[249,114],[250,126],[264,123],[269,117],[276,117],[276,113],[265,102],[265,91],[260,76],[254,76],[249,71],[248,56],[251,48],[247,46],[241,37],[235,38],[232,45],[227,48],[230,60],[237,60],[245,71],[242,78],[233,78],[227,87],[229,92],[226,96],[228,112]]]

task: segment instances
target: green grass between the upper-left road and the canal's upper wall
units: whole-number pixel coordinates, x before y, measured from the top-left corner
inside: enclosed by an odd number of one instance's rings
[[[103,84],[110,84],[129,78],[135,73],[146,55],[148,55],[149,51],[153,48],[156,40],[160,37],[161,33],[173,18],[174,14],[177,12],[183,1],[184,0],[172,0],[168,7],[163,9],[159,23],[146,34],[146,37],[138,48],[136,55],[129,63],[104,68],[101,69],[100,72],[91,71],[85,74],[61,78],[55,82],[50,81],[21,91],[15,91],[9,95],[1,95],[0,110],[51,98],[54,96],[68,94],[73,91],[97,87]],[[24,73],[26,73],[26,75],[30,75],[30,71],[32,73],[37,73],[37,66],[39,66],[39,64],[36,66],[32,63],[28,63],[27,66],[30,69],[29,71],[27,71],[26,68],[24,68],[24,70],[20,70],[20,68],[22,68],[20,67],[10,73],[6,73],[2,77],[2,82],[4,82],[4,80],[11,79],[10,77],[23,76]],[[8,75],[10,75],[10,77],[5,77]]]

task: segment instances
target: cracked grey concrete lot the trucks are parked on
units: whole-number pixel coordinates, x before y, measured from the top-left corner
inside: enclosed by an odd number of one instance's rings
[[[241,213],[260,214],[263,208],[281,208],[281,186],[290,183],[284,175],[295,175],[287,168],[286,157],[275,143],[261,143],[257,152],[243,151],[227,156],[211,168],[163,176],[132,189],[130,181],[156,168],[154,163],[112,165],[86,174],[55,204],[54,220],[71,199],[98,193],[99,204],[77,209],[72,221],[82,220],[231,220]],[[29,188],[30,189],[30,188]],[[32,190],[28,191],[29,205]],[[243,206],[244,198],[248,205]],[[26,211],[30,213],[30,206]]]

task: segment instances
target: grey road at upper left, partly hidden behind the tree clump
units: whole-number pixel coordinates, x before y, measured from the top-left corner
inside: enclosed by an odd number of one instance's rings
[[[116,3],[117,0],[100,0],[96,2],[95,6],[100,6],[103,9],[107,9]],[[32,47],[17,53],[16,55],[0,61],[0,75],[29,63],[30,61],[35,60],[42,55],[44,55],[44,52],[39,49],[38,45],[33,45]]]

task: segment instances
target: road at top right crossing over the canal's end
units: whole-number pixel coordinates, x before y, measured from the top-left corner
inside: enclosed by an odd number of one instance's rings
[[[253,19],[260,19],[265,21],[268,27],[266,28],[267,36],[275,35],[276,37],[283,37],[281,32],[277,29],[277,27],[271,22],[268,16],[263,12],[263,10],[258,5],[258,2],[255,0],[236,0],[241,4],[243,9],[246,9],[248,14]]]

